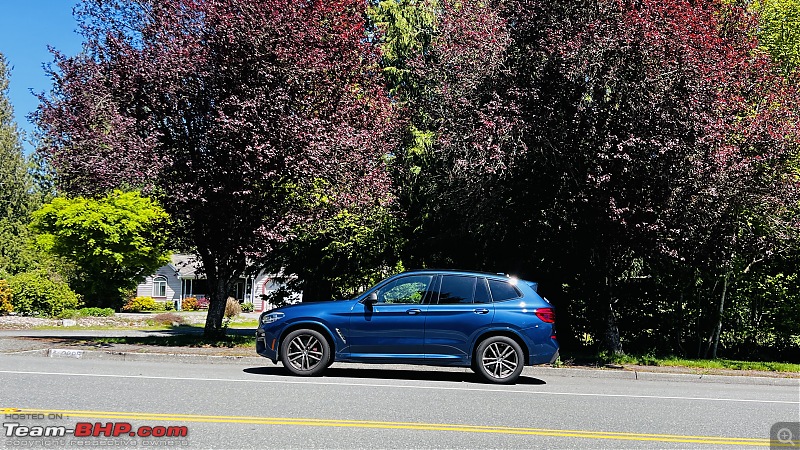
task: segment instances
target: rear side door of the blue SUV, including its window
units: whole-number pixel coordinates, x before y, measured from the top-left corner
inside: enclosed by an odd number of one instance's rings
[[[425,321],[425,358],[464,363],[475,337],[491,325],[494,306],[486,279],[441,275]]]

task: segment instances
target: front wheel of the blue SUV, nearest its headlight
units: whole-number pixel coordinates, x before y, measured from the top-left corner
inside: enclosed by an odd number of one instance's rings
[[[328,340],[317,331],[294,330],[281,341],[281,362],[293,375],[319,375],[331,359]]]

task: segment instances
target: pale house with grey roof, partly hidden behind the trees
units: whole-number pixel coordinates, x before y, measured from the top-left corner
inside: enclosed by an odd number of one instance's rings
[[[242,277],[236,283],[231,297],[241,303],[252,303],[254,311],[266,311],[274,306],[266,302],[262,295],[269,295],[280,287],[274,281],[274,275],[259,272],[256,276]],[[208,283],[200,270],[200,260],[196,255],[189,254],[173,254],[169,264],[146,277],[136,288],[137,297],[172,302],[178,310],[184,298],[204,298],[208,293]],[[296,300],[300,300],[300,297],[298,294]]]

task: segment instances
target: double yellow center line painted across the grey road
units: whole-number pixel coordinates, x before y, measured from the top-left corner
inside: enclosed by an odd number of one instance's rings
[[[688,436],[679,434],[627,433],[620,431],[558,430],[548,428],[502,427],[485,425],[442,424],[421,422],[378,422],[367,420],[311,419],[295,417],[248,417],[248,416],[207,416],[196,414],[160,414],[121,411],[86,411],[57,409],[15,409],[19,414],[63,414],[65,417],[114,420],[161,420],[172,422],[202,423],[240,423],[258,425],[288,425],[308,427],[376,428],[422,431],[456,431],[462,433],[493,433],[511,435],[534,435],[552,437],[572,437],[584,439],[610,439],[623,441],[655,441],[670,443],[709,444],[709,445],[749,445],[768,447],[769,439],[739,438],[724,436]],[[780,443],[772,443],[780,445]],[[789,445],[785,445],[789,446]]]

